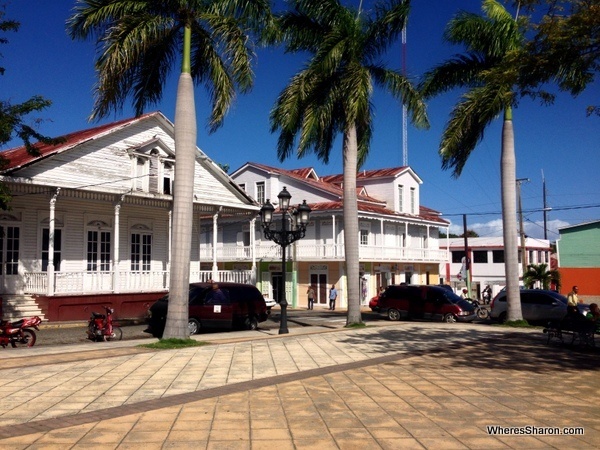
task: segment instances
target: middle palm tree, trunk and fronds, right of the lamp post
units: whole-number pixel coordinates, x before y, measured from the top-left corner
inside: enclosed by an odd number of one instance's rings
[[[311,56],[280,93],[271,111],[271,131],[280,133],[281,161],[295,148],[299,157],[314,152],[327,163],[336,135],[343,135],[347,324],[358,324],[362,317],[356,173],[369,150],[373,85],[401,99],[414,123],[428,126],[416,89],[401,73],[378,61],[406,25],[409,2],[388,1],[387,7],[376,7],[373,18],[338,0],[295,0],[293,7],[280,17],[283,42],[288,52]]]

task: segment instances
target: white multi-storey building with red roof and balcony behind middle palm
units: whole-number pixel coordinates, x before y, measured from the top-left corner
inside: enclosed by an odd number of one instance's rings
[[[335,285],[338,305],[347,306],[342,175],[320,177],[312,168],[284,170],[249,162],[231,177],[258,204],[277,203],[278,193],[286,187],[293,204],[306,200],[312,209],[306,236],[288,251],[288,303],[306,307],[306,292],[312,285],[315,304],[325,307],[329,289]],[[440,213],[420,205],[421,184],[410,167],[362,171],[357,176],[363,305],[389,284],[440,282],[440,263],[447,261],[448,252],[440,249],[439,229],[447,232],[449,223]],[[277,220],[281,219],[274,222]],[[264,295],[278,299],[283,289],[281,248],[264,238],[259,224],[242,230],[239,223],[222,225],[222,236],[216,240],[222,248],[217,253],[231,255],[233,248],[240,258],[237,264],[243,264],[244,249],[251,253],[249,247],[254,243],[257,283]],[[211,229],[206,233],[202,248],[210,254]]]

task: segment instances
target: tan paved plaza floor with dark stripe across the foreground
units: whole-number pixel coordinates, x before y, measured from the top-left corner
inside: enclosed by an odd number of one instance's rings
[[[598,353],[546,346],[539,330],[383,323],[169,351],[122,341],[108,357],[98,344],[6,350],[0,449],[600,447]]]

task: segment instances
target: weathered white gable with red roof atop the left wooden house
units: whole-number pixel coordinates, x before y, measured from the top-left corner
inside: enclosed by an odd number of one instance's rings
[[[63,136],[59,145],[8,150],[8,183],[52,186],[171,200],[174,125],[160,112]],[[208,156],[196,148],[194,202],[216,208],[257,210],[255,202]]]

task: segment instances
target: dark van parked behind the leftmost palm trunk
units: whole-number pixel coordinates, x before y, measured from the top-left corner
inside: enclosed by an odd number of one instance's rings
[[[146,333],[162,337],[168,302],[167,294],[150,307],[146,320],[148,328],[144,330]],[[190,335],[210,328],[255,330],[259,322],[264,322],[267,317],[265,299],[256,286],[239,283],[190,284]]]

